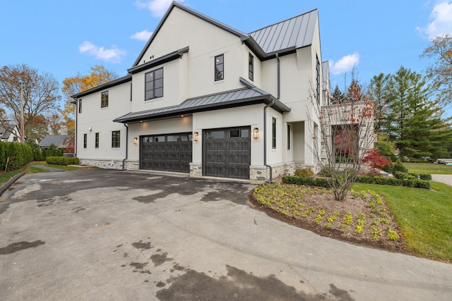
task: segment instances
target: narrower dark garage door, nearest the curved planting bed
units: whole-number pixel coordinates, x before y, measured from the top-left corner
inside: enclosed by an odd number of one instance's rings
[[[249,179],[250,128],[203,131],[203,176]]]

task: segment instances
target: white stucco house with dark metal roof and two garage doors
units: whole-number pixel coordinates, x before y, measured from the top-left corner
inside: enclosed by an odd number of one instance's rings
[[[316,168],[326,83],[317,10],[244,33],[173,2],[128,75],[73,95],[76,156],[251,183]]]

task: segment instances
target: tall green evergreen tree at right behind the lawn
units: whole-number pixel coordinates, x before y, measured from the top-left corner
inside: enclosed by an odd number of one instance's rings
[[[429,100],[429,87],[422,75],[400,67],[388,79],[385,95],[382,130],[396,143],[400,156],[436,159],[447,154],[452,133],[448,121],[441,119],[444,111],[438,102]]]

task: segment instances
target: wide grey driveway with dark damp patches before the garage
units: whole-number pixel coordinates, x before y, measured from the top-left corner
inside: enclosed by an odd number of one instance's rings
[[[254,185],[28,174],[0,197],[1,300],[451,300],[452,265],[322,238]]]

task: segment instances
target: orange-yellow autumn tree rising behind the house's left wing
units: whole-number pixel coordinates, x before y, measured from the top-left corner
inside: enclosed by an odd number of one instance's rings
[[[71,102],[73,101],[71,96],[73,94],[83,92],[93,87],[97,87],[98,85],[103,85],[117,78],[118,75],[116,73],[111,70],[107,70],[102,65],[91,67],[91,73],[88,75],[81,75],[80,73],[78,73],[72,78],[65,78],[63,80],[63,87],[61,91],[66,97],[66,103],[64,104],[63,110],[63,116],[66,120],[66,123],[73,123],[72,116],[75,110],[75,106],[71,104]],[[70,125],[71,124],[68,124],[68,128],[70,128]]]

